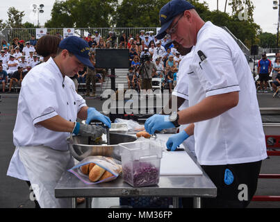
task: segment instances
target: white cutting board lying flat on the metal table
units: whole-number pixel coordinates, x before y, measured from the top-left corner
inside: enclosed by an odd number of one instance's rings
[[[202,171],[190,158],[186,151],[166,151],[160,161],[160,175],[202,175]]]

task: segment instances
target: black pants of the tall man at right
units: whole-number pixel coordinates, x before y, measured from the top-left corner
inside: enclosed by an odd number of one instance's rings
[[[245,164],[201,166],[217,187],[216,198],[201,198],[204,208],[245,208],[252,200],[258,184],[261,161]],[[224,182],[224,173],[229,169],[233,182]],[[190,207],[190,198],[183,198],[183,207]]]

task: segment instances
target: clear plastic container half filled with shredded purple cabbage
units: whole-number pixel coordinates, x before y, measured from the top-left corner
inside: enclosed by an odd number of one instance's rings
[[[146,139],[122,144],[122,173],[124,181],[133,187],[157,185],[160,177],[161,146]]]

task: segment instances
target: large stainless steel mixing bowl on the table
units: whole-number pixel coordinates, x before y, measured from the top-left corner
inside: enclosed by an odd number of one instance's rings
[[[104,155],[121,160],[122,148],[119,144],[133,143],[136,140],[136,136],[122,133],[110,133],[111,145],[89,145],[88,137],[81,137],[81,135],[75,135],[67,138],[71,155],[79,161],[92,155]]]

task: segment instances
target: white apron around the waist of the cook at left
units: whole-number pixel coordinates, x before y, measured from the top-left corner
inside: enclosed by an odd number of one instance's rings
[[[74,166],[69,151],[56,151],[47,146],[24,146],[19,147],[19,159],[24,164],[41,208],[71,207],[71,199],[54,196],[58,180]]]

